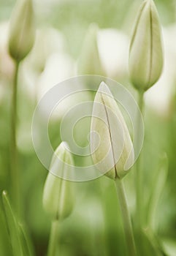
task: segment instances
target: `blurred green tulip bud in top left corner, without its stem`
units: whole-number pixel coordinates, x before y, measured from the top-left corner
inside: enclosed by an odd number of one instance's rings
[[[9,54],[15,61],[24,59],[34,44],[34,13],[31,0],[18,0],[9,28]]]

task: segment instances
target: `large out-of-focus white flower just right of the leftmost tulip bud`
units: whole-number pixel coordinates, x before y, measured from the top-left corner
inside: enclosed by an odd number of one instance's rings
[[[53,28],[37,30],[34,47],[20,66],[20,89],[39,100],[57,83],[74,75],[74,61],[65,49],[66,39]]]

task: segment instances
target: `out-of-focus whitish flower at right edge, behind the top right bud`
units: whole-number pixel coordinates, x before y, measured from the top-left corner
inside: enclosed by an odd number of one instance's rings
[[[159,116],[168,116],[170,102],[175,94],[176,25],[163,29],[164,69],[161,79],[145,93],[145,103]]]

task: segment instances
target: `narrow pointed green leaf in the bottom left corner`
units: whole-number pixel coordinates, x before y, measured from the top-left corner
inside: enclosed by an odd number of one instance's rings
[[[15,215],[12,212],[12,208],[9,204],[7,192],[2,192],[2,202],[4,206],[4,214],[7,221],[7,230],[9,233],[10,242],[12,245],[12,252],[14,256],[22,256],[23,251],[20,244],[20,237],[18,233],[18,223],[16,222]]]

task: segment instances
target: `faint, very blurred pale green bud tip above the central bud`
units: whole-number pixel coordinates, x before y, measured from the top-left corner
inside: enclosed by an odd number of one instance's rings
[[[83,49],[77,63],[78,75],[104,75],[102,63],[99,58],[99,49],[97,45],[96,24],[91,24],[85,36]]]

